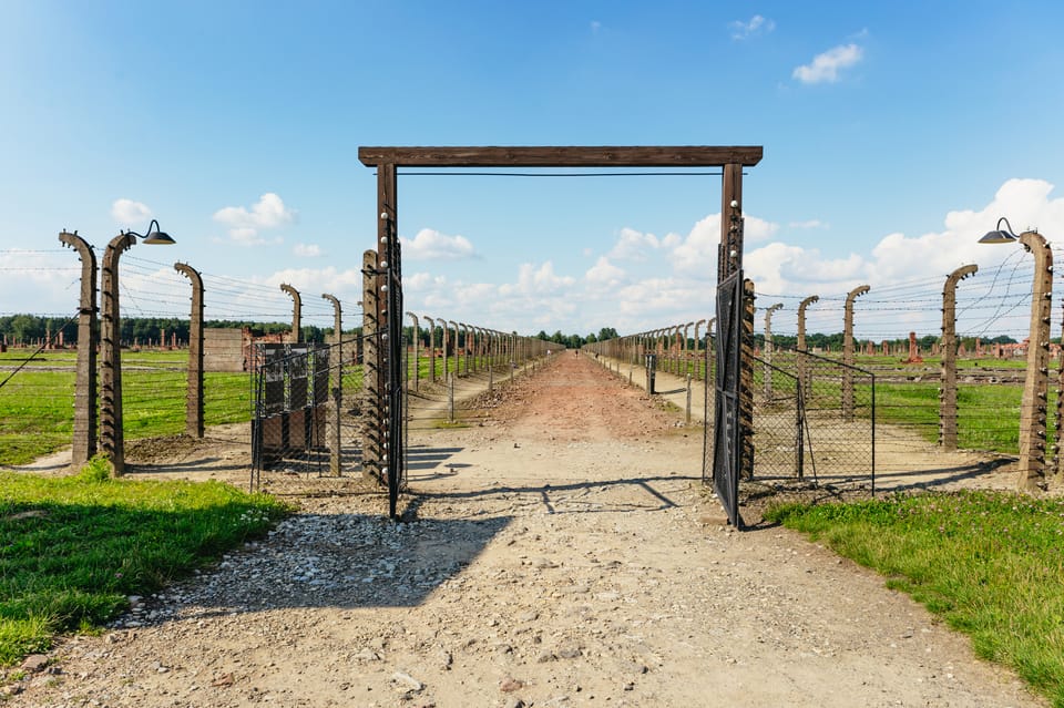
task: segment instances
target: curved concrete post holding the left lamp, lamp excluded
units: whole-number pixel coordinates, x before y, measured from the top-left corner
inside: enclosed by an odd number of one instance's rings
[[[103,252],[100,278],[100,451],[114,474],[125,473],[125,437],[122,430],[122,324],[119,316],[119,256],[136,243],[133,234],[119,234]]]

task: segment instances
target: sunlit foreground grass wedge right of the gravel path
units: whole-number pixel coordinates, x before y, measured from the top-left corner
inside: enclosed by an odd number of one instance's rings
[[[767,517],[887,576],[1064,708],[1064,502],[940,493]]]

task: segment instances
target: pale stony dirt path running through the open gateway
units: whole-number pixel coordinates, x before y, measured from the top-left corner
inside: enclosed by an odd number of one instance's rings
[[[411,433],[408,523],[325,481],[9,705],[1045,705],[881,578],[705,523],[700,428],[585,357],[497,398]]]

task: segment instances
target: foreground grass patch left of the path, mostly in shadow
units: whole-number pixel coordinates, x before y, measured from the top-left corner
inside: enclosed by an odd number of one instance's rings
[[[102,459],[75,476],[0,472],[0,665],[98,628],[246,540],[287,510],[218,482],[112,480]]]

